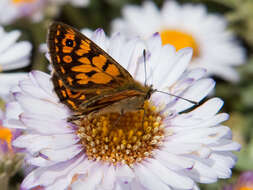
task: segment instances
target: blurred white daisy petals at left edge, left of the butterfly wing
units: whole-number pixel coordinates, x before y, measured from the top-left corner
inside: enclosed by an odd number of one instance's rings
[[[26,67],[30,63],[32,45],[28,41],[19,41],[20,31],[5,32],[0,26],[0,71],[11,71]],[[9,90],[24,79],[27,73],[0,73],[0,97],[9,99]]]

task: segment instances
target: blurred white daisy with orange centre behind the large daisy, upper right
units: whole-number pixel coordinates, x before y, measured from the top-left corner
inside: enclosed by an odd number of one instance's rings
[[[203,5],[165,1],[159,10],[153,2],[147,1],[141,7],[124,7],[122,14],[122,19],[112,22],[113,32],[143,38],[159,32],[163,44],[172,44],[177,50],[193,48],[191,68],[202,67],[226,80],[239,80],[234,66],[245,62],[245,51],[227,30],[225,18],[208,13]]]

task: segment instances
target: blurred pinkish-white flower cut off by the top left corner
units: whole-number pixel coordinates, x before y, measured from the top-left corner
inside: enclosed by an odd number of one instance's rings
[[[32,21],[39,22],[47,13],[57,14],[59,6],[65,3],[85,7],[89,4],[89,0],[1,0],[0,24],[10,24],[22,17],[29,17]]]

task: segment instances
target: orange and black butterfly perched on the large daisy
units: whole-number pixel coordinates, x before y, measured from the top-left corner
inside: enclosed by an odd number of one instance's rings
[[[67,24],[53,22],[47,44],[54,90],[79,115],[143,109],[155,91],[134,80],[103,49]]]

